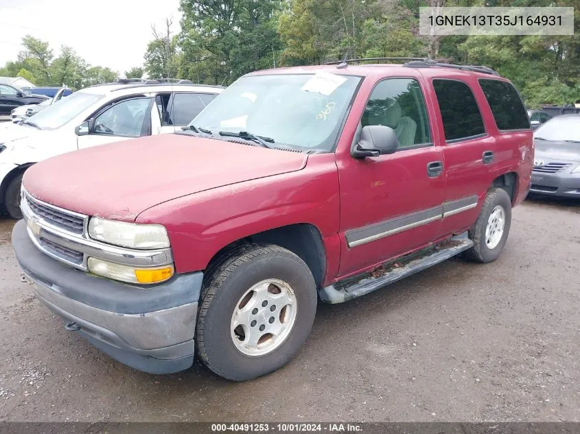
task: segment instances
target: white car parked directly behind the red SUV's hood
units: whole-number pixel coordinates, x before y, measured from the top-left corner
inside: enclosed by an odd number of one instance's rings
[[[175,132],[223,89],[184,81],[99,84],[20,123],[0,126],[0,204],[11,217],[21,218],[21,180],[34,163],[85,147]]]

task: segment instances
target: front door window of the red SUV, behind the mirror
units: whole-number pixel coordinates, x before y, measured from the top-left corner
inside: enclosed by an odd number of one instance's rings
[[[399,149],[431,143],[425,100],[419,83],[413,78],[391,78],[377,84],[360,121],[363,127],[393,128]]]

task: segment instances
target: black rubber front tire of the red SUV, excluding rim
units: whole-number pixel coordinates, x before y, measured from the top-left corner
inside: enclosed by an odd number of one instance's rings
[[[240,298],[268,278],[288,282],[297,300],[290,334],[277,348],[261,356],[238,350],[231,337],[231,317]],[[306,341],[316,314],[316,284],[297,255],[277,245],[242,245],[223,256],[204,278],[196,327],[200,359],[216,374],[246,381],[286,365]]]

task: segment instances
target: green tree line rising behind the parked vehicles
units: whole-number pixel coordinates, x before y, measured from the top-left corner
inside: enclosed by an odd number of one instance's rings
[[[575,6],[575,36],[419,36],[419,7]],[[429,57],[491,67],[518,87],[526,104],[580,99],[578,0],[181,0],[181,30],[152,27],[143,67],[127,77],[175,77],[231,84],[257,69],[375,57]],[[69,47],[54,56],[27,36],[25,50],[0,75],[30,74],[37,85],[82,88],[114,81]],[[9,72],[9,73],[7,73]]]

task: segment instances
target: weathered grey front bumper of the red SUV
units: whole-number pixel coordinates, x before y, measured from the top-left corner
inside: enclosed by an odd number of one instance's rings
[[[100,278],[40,252],[23,220],[12,230],[12,248],[38,300],[67,330],[137,370],[168,374],[192,365],[201,272],[148,287]]]

